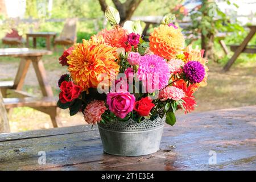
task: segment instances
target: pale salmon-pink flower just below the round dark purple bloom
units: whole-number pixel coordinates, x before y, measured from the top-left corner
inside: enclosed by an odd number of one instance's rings
[[[184,91],[176,88],[175,86],[167,86],[167,88],[164,88],[159,92],[159,98],[161,101],[166,101],[168,99],[179,101],[183,97],[185,97]]]

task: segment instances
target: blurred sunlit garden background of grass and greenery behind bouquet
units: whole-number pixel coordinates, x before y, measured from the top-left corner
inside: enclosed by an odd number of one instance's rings
[[[63,30],[65,19],[79,18],[77,22],[77,42],[89,39],[102,28],[109,28],[104,16],[106,5],[117,7],[121,21],[128,19],[158,19],[173,14],[174,22],[182,28],[186,36],[186,44],[205,48],[209,59],[208,86],[196,92],[197,107],[195,111],[206,111],[240,107],[256,104],[256,55],[241,53],[228,72],[224,65],[232,57],[221,48],[219,34],[226,45],[241,44],[249,32],[246,25],[256,24],[256,1],[176,1],[176,0],[0,0],[0,38],[11,28],[16,28],[23,40],[28,32],[56,32]],[[125,11],[123,11],[126,7]],[[121,11],[121,12],[120,12]],[[146,23],[141,21],[144,28]],[[151,24],[147,30],[158,24]],[[191,36],[193,35],[193,36]],[[147,35],[145,35],[147,38]],[[202,41],[202,38],[204,39]],[[32,44],[32,40],[31,44]],[[256,37],[249,46],[256,45]],[[37,48],[46,49],[46,40],[38,38]],[[1,48],[7,48],[0,43]],[[24,42],[21,47],[26,47]],[[54,94],[59,94],[57,80],[66,73],[66,68],[59,64],[59,57],[64,49],[57,46],[52,55],[43,56],[44,67]],[[1,57],[0,81],[13,80],[20,59]],[[31,66],[32,67],[32,66]],[[29,69],[23,90],[40,95],[40,87],[35,79],[34,69]],[[183,113],[179,113],[183,114]],[[63,126],[84,124],[82,114],[69,117],[67,110],[61,111]],[[52,127],[48,115],[29,107],[18,107],[9,115],[11,132],[47,129]]]

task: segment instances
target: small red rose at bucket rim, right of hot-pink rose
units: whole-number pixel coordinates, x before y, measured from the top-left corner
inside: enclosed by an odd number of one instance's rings
[[[134,110],[141,116],[147,116],[150,114],[150,110],[155,106],[148,97],[142,98],[135,102]]]

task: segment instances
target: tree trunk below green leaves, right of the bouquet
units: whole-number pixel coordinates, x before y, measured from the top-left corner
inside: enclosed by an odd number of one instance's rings
[[[204,57],[214,61],[214,35],[212,33],[206,36],[201,34],[201,48],[204,49]]]

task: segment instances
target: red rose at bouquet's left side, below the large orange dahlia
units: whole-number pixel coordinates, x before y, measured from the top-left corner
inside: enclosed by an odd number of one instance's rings
[[[66,102],[71,102],[79,97],[82,88],[81,86],[75,85],[72,81],[63,81],[60,85],[60,90],[60,102],[65,104]]]

